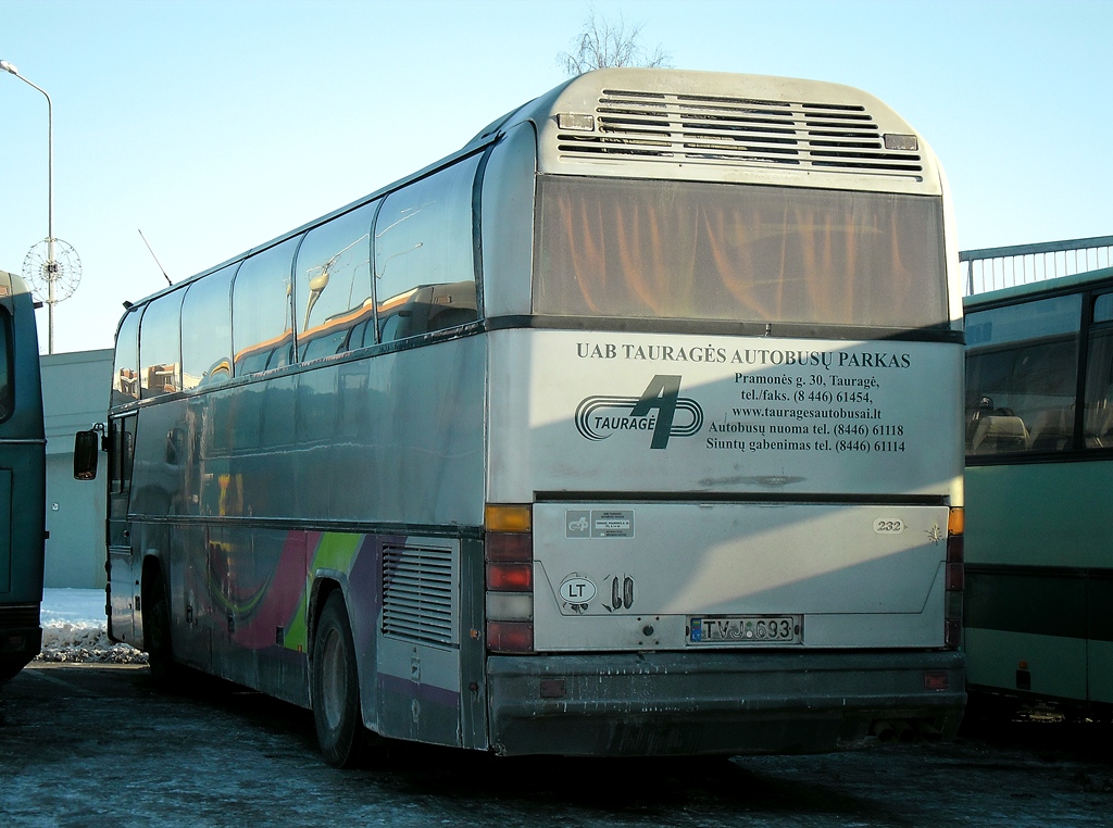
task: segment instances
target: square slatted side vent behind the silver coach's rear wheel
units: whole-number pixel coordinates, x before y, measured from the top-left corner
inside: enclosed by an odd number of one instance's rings
[[[455,644],[456,570],[451,549],[383,549],[383,632]]]

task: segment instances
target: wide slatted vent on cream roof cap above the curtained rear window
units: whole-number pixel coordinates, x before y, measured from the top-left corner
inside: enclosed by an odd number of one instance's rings
[[[605,89],[594,132],[560,131],[562,158],[795,166],[919,177],[917,152],[889,150],[865,107]]]

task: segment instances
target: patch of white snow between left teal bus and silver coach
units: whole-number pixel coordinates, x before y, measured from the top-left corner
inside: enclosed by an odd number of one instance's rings
[[[108,640],[104,590],[42,590],[42,652],[36,661],[145,663],[146,653]]]

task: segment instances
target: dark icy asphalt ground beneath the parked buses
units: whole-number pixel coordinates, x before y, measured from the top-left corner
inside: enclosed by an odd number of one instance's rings
[[[308,711],[147,668],[36,663],[0,690],[6,826],[1110,826],[1109,724],[971,716],[954,742],[808,757],[499,759],[396,746],[356,770]]]

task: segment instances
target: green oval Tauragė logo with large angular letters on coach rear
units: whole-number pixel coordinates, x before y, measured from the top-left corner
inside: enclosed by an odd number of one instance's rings
[[[703,410],[680,396],[680,377],[669,374],[654,376],[640,397],[590,396],[575,408],[575,428],[588,440],[607,440],[615,432],[652,432],[649,447],[666,448],[669,437],[691,437],[702,427]]]

